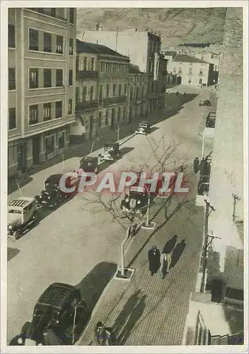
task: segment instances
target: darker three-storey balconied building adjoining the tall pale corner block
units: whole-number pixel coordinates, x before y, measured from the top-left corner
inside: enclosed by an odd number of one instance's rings
[[[127,122],[129,57],[76,40],[76,122],[71,141],[94,139]]]

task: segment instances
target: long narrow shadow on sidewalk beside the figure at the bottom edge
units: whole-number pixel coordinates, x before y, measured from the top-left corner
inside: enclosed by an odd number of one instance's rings
[[[129,319],[127,321],[127,324],[125,325],[124,329],[122,329],[122,332],[120,333],[120,336],[117,338],[117,345],[119,346],[124,346],[127,339],[129,338],[130,334],[132,333],[132,330],[137,323],[137,321],[140,319],[141,315],[144,312],[145,309],[145,299],[146,295],[143,295],[139,301],[137,302],[136,306],[134,307],[133,311],[129,315]]]

